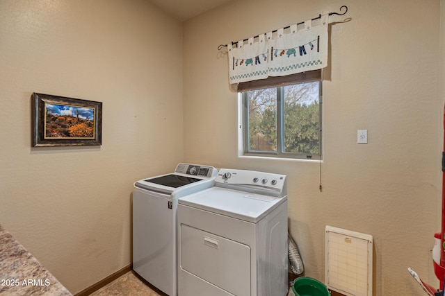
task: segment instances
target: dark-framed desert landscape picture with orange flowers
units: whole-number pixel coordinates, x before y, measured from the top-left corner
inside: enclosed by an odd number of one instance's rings
[[[102,144],[102,102],[32,96],[33,147]]]

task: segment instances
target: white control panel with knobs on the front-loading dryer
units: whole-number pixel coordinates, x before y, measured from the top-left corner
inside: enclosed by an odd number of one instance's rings
[[[286,175],[221,168],[215,182],[241,186],[254,185],[282,191],[286,186]]]

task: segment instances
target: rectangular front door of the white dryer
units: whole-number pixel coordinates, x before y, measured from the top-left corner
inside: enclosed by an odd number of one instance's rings
[[[250,296],[250,247],[181,225],[181,268],[230,295]]]

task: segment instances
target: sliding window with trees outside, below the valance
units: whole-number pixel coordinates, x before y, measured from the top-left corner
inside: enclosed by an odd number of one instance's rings
[[[244,155],[321,159],[322,70],[238,85]]]

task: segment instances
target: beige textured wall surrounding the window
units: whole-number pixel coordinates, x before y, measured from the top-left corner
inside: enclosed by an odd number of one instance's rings
[[[332,225],[373,235],[375,295],[421,295],[409,266],[437,284],[430,250],[442,196],[439,3],[240,0],[183,24],[184,158],[288,175],[289,227],[309,277],[324,278],[324,229]],[[350,21],[330,25],[321,175],[318,162],[238,157],[237,96],[218,45],[342,5],[348,14],[333,19]],[[357,144],[359,129],[368,130],[368,144]]]

